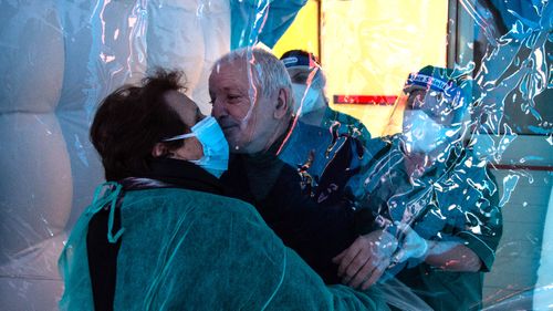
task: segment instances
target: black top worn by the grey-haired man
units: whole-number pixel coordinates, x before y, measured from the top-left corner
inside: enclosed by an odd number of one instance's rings
[[[282,138],[263,153],[231,156],[221,183],[230,195],[253,205],[265,222],[326,283],[338,283],[332,258],[357,237],[348,201],[317,203],[302,189],[298,169],[278,158]]]

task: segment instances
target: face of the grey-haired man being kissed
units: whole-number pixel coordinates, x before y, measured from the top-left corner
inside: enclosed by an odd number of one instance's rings
[[[278,96],[263,96],[253,75],[253,65],[238,59],[215,68],[209,76],[211,115],[219,122],[231,153],[258,153],[273,142]]]

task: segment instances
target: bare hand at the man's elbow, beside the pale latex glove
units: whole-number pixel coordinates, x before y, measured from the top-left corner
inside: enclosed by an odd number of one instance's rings
[[[388,268],[397,240],[390,234],[376,230],[358,237],[352,246],[334,257],[338,265],[338,277],[352,288],[363,290],[374,284]]]

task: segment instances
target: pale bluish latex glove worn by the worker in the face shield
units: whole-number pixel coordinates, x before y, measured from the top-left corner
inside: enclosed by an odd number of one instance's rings
[[[404,240],[399,246],[397,252],[394,255],[394,262],[404,262],[409,258],[425,259],[428,253],[429,241],[421,238],[413,228],[407,224],[395,222],[398,231],[404,235]]]

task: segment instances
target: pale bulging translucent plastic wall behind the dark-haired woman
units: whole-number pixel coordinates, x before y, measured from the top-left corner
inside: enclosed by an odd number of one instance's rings
[[[56,310],[66,232],[103,179],[88,141],[96,105],[169,66],[207,108],[200,81],[230,49],[230,3],[0,1],[0,11],[1,309]]]

